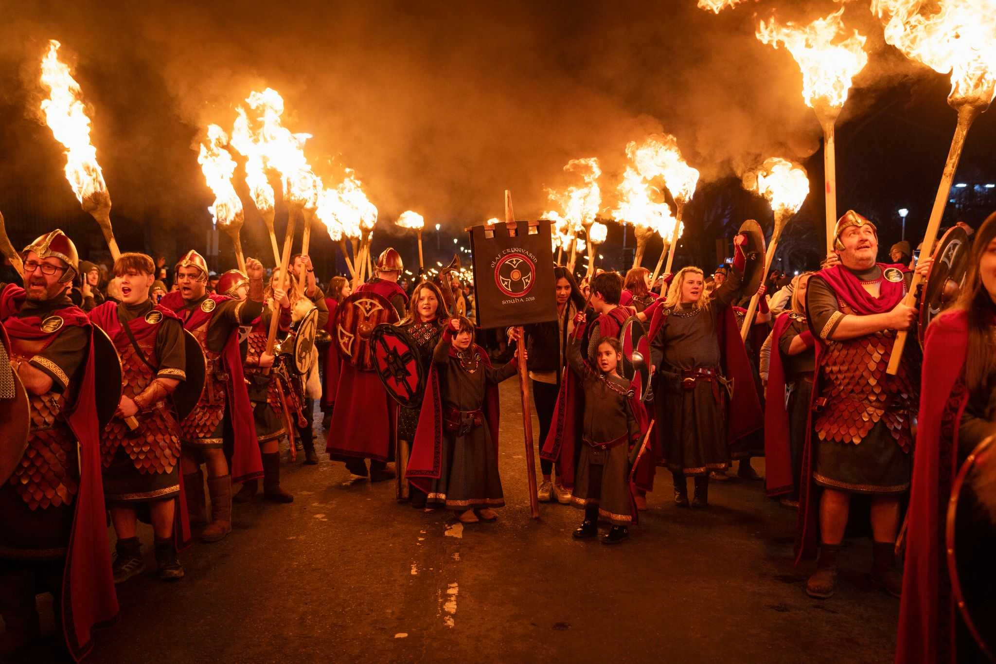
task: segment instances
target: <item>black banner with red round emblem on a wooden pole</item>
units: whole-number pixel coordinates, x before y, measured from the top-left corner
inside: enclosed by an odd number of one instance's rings
[[[549,221],[519,221],[515,229],[505,223],[474,226],[470,247],[479,327],[557,320]]]

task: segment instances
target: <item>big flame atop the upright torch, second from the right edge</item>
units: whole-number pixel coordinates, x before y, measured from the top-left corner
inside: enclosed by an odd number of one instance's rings
[[[850,37],[839,39],[848,34],[843,15],[844,7],[805,27],[792,22],[779,25],[773,18],[769,23],[761,21],[757,29],[757,38],[762,43],[776,49],[785,46],[799,63],[803,100],[811,109],[816,108],[818,100],[824,100],[832,108],[844,107],[852,81],[868,64],[867,37],[855,30]]]

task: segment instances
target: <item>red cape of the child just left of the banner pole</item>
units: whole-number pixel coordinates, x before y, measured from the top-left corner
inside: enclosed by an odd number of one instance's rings
[[[480,353],[481,360],[486,365],[491,366],[487,351],[476,344],[474,348]],[[452,346],[449,349],[449,356],[456,356],[456,349]],[[497,458],[500,417],[498,385],[493,383],[485,385],[483,410],[484,419],[487,421],[488,430],[491,433],[491,443],[495,447],[495,458]],[[442,393],[439,390],[439,372],[435,362],[432,362],[432,367],[429,369],[429,380],[425,385],[425,395],[422,397],[422,407],[418,413],[418,428],[415,429],[415,439],[411,442],[408,469],[404,474],[411,485],[423,494],[429,493],[432,488],[432,480],[440,479],[439,476],[442,474],[442,455],[444,453],[442,443]]]

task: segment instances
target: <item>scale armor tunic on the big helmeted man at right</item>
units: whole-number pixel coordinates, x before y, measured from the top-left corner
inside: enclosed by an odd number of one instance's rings
[[[873,275],[858,277],[869,281]],[[853,312],[819,276],[810,279],[807,305],[813,333],[827,344],[813,413],[814,481],[840,491],[904,492],[911,473],[911,417],[919,402],[917,344],[906,344],[899,370],[890,376],[885,368],[895,331],[830,339]]]

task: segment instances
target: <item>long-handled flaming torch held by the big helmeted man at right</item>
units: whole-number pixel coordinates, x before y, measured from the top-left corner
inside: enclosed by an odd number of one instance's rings
[[[985,112],[996,97],[996,14],[987,0],[872,0],[871,11],[884,23],[885,42],[909,59],[951,75],[947,104],[958,113],[951,148],[944,163],[940,186],[934,198],[920,261],[933,253],[948,192],[954,180],[965,136],[979,113]],[[912,307],[920,283],[913,273],[905,304]],[[906,332],[898,332],[888,373],[895,374],[906,343]]]

